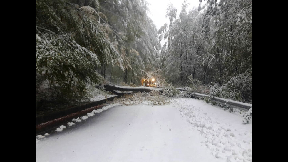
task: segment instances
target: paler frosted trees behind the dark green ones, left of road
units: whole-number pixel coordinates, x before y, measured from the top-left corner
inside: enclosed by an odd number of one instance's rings
[[[102,66],[101,75],[105,78],[110,75],[110,81],[116,84],[122,81],[139,84],[145,71],[155,70],[158,66],[157,50],[160,47],[156,26],[147,16],[147,2],[101,1],[97,11],[99,29],[105,31],[106,39],[119,52],[124,67],[120,71],[111,65]],[[91,13],[90,9],[88,12]]]

